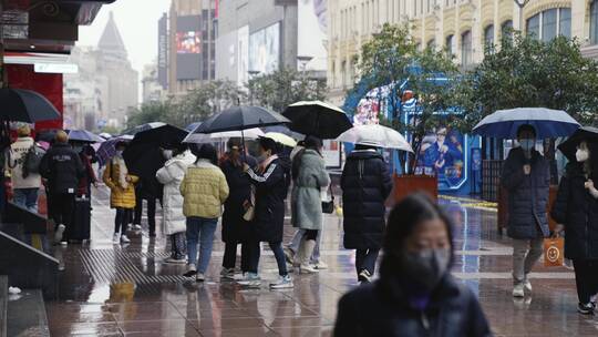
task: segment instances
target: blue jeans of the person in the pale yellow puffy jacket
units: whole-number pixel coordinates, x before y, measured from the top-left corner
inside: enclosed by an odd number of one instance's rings
[[[217,218],[187,217],[187,255],[189,265],[197,265],[197,273],[206,273],[212,258],[214,233]],[[197,264],[197,242],[199,242],[199,264]]]

